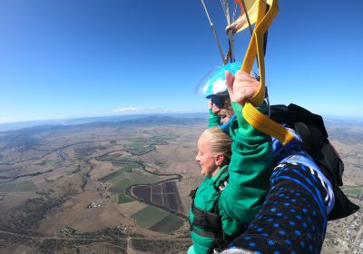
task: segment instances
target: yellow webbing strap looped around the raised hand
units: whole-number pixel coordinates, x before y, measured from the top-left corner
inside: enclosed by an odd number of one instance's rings
[[[260,67],[260,89],[250,98],[249,102],[243,105],[243,116],[247,122],[260,132],[266,133],[277,138],[282,144],[287,144],[292,140],[293,135],[288,129],[281,126],[278,122],[272,121],[269,117],[259,112],[255,106],[260,106],[265,99],[265,62],[263,53],[263,37],[272,23],[275,16],[278,14],[278,0],[270,0],[269,11],[266,13],[267,4],[263,0],[258,0],[258,15],[256,26],[250,38],[249,48],[243,59],[241,70],[250,73],[257,54]]]

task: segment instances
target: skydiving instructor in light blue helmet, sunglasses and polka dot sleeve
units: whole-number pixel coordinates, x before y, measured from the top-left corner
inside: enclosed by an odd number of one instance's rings
[[[231,106],[235,100],[235,94],[228,93],[231,83],[241,77],[246,86],[239,89],[259,83],[239,70],[240,63],[222,66],[208,77],[202,90],[210,100],[209,127],[220,126],[230,135],[232,122],[241,113]],[[329,216],[343,218],[357,210],[346,197],[336,195],[336,184],[329,173],[320,169],[305,151],[299,135],[289,131],[294,139],[287,145],[272,138],[274,166],[266,200],[247,230],[227,243],[223,253],[319,253]],[[332,212],[337,210],[338,214]]]

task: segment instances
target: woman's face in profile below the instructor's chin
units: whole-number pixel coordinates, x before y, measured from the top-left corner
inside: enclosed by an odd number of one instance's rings
[[[216,156],[211,152],[210,143],[203,136],[198,141],[198,153],[195,160],[201,164],[202,175],[213,176],[220,169],[216,164]]]

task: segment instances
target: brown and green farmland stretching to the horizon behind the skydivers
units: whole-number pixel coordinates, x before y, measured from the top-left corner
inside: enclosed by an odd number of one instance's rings
[[[44,125],[0,132],[1,253],[184,253],[205,118]],[[362,207],[363,122],[326,121]],[[329,222],[322,253],[361,253],[362,210]]]

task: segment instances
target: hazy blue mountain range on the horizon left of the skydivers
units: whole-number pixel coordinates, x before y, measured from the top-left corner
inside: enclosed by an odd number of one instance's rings
[[[53,126],[69,126],[78,125],[85,123],[96,123],[96,122],[125,122],[125,121],[136,121],[144,122],[145,119],[150,123],[156,123],[157,121],[177,121],[175,123],[182,123],[177,119],[207,119],[208,113],[195,112],[195,113],[168,113],[168,114],[132,114],[132,115],[116,115],[116,116],[104,116],[104,117],[85,117],[75,119],[64,119],[64,120],[40,120],[40,121],[29,121],[29,122],[9,122],[0,124],[0,132],[9,132],[25,128],[38,127],[44,125]],[[138,121],[137,121],[138,120]],[[190,120],[188,121],[190,122]]]

